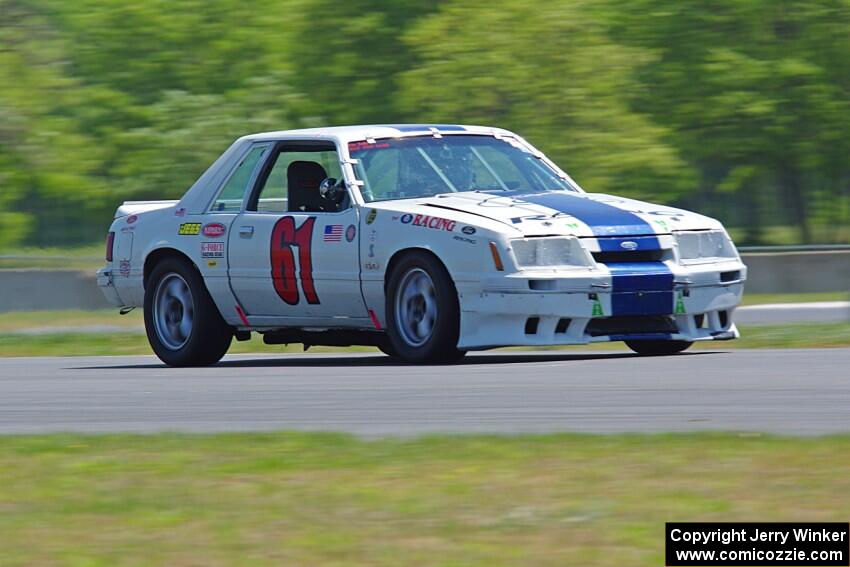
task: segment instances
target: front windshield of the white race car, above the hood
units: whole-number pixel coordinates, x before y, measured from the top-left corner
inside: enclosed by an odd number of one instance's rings
[[[510,138],[449,135],[352,142],[367,202],[458,191],[576,191]]]

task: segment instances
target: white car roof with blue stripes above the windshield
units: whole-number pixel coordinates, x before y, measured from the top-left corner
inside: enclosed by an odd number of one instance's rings
[[[440,134],[512,135],[507,130],[489,126],[467,126],[462,124],[364,124],[359,126],[328,126],[324,128],[261,132],[243,136],[240,140],[261,141],[289,138],[334,140],[347,143],[365,140],[367,138],[399,138],[404,136],[421,136],[434,132]]]

